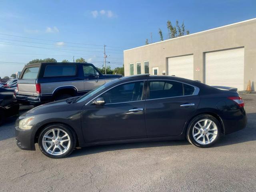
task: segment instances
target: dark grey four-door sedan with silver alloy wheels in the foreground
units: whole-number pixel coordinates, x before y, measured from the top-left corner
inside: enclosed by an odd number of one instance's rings
[[[78,146],[126,142],[186,138],[207,148],[246,122],[244,102],[234,89],[144,74],[33,108],[17,119],[15,132],[19,148],[35,150],[38,143],[46,156],[63,158]]]

